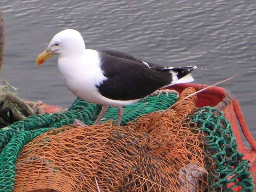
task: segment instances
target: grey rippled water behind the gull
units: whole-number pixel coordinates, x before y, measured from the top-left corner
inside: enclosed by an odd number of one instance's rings
[[[208,2],[208,3],[207,3]],[[75,97],[63,85],[53,57],[36,56],[57,32],[74,28],[86,47],[115,49],[170,66],[196,64],[195,83],[221,86],[239,99],[254,136],[256,108],[256,1],[1,0],[5,59],[1,79],[28,100],[68,107]]]

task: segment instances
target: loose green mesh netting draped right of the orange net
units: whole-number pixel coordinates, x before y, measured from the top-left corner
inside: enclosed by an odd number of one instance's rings
[[[250,178],[249,161],[237,151],[231,125],[222,111],[213,107],[197,108],[190,116],[204,135],[205,168],[209,173],[208,191],[253,192],[253,179]],[[227,189],[230,182],[235,184]]]

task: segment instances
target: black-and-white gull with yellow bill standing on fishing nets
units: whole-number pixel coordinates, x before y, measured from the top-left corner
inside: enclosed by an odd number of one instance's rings
[[[112,106],[118,108],[116,125],[120,126],[123,106],[160,88],[194,81],[189,73],[196,69],[195,65],[163,67],[119,51],[86,49],[83,37],[74,29],[53,36],[36,58],[37,65],[53,54],[59,56],[58,68],[68,90],[82,100],[102,105],[95,124]]]

